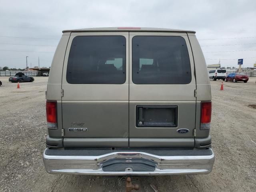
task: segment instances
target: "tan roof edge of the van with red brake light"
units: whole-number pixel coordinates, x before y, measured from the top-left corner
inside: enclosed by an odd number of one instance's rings
[[[84,28],[63,30],[64,32],[96,32],[96,31],[140,31],[140,32],[191,32],[190,30],[168,29],[168,28],[149,28],[149,27],[104,27],[104,28]]]

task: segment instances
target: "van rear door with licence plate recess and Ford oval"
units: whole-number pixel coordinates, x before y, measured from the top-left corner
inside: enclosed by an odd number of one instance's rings
[[[196,79],[186,33],[130,32],[130,147],[194,147]]]

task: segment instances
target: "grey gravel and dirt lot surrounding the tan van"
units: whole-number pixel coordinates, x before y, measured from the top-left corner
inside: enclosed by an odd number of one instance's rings
[[[0,191],[124,192],[120,176],[50,175],[42,152],[47,134],[45,90],[47,77],[32,83],[9,83],[0,77]],[[207,175],[132,177],[140,192],[256,191],[256,78],[248,83],[211,81],[212,148],[216,155]]]

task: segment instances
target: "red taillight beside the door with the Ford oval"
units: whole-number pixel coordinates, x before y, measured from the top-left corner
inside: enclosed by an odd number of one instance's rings
[[[210,129],[212,118],[212,102],[201,103],[201,126],[200,129]]]

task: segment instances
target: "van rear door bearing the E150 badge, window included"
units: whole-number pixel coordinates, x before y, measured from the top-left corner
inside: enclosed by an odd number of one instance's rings
[[[62,74],[64,147],[128,147],[128,32],[72,32]]]

